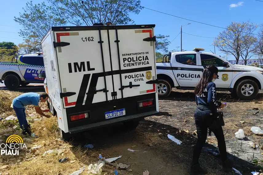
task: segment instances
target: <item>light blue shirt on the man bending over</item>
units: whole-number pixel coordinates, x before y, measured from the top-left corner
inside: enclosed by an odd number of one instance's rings
[[[29,92],[14,98],[12,104],[17,108],[24,108],[27,105],[38,106],[40,94]]]

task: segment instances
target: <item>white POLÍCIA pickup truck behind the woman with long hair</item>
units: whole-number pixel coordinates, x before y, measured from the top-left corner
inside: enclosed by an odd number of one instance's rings
[[[219,71],[219,78],[214,81],[217,90],[230,91],[240,99],[251,100],[257,96],[259,89],[263,89],[262,68],[230,64],[220,56],[200,51],[204,49],[169,52],[163,56],[162,63],[156,63],[159,97],[169,96],[172,87],[194,89],[209,65],[216,66]]]

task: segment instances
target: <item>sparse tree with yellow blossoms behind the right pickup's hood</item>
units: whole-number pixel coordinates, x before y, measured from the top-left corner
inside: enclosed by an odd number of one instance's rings
[[[236,63],[240,56],[248,60],[253,52],[253,32],[257,29],[257,25],[247,22],[231,22],[227,26],[226,30],[220,32],[214,39],[213,45],[215,45],[220,51],[226,54],[232,54]],[[245,61],[246,62],[246,61]]]

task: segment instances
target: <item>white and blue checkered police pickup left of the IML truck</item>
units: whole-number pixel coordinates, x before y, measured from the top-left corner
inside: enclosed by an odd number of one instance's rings
[[[12,61],[0,62],[0,83],[4,83],[9,89],[29,83],[43,83],[44,78],[38,77],[41,72],[45,72],[42,53],[18,55]]]

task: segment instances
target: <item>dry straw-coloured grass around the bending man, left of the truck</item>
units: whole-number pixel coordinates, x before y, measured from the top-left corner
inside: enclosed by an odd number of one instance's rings
[[[6,115],[14,114],[13,109],[10,108],[12,99],[20,93],[12,91],[0,91],[0,114],[3,112]],[[46,108],[46,104],[41,105],[41,108]],[[36,114],[33,107],[26,108],[26,113]],[[39,118],[34,121],[32,119]],[[0,173],[10,175],[66,175],[70,174],[79,168],[86,166],[84,172],[87,174],[87,165],[97,161],[95,151],[87,153],[82,146],[73,147],[69,142],[64,142],[59,139],[59,129],[57,125],[57,118],[51,117],[49,119],[40,115],[27,117],[32,120],[31,128],[39,138],[25,137],[21,134],[18,120],[0,121],[0,139],[5,140],[3,134],[18,134],[26,141],[27,150],[20,150],[19,156],[0,156]],[[12,129],[13,126],[18,125],[17,129]],[[30,139],[30,140],[28,140]],[[32,149],[33,146],[41,146],[39,149]],[[55,150],[51,154],[42,156],[45,151]],[[59,153],[58,150],[62,150]],[[90,154],[92,156],[87,156]],[[64,163],[59,163],[58,159],[68,157]],[[88,158],[89,157],[89,158]],[[71,163],[70,161],[74,161]],[[6,169],[1,169],[3,165],[9,165]]]

